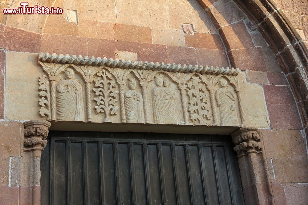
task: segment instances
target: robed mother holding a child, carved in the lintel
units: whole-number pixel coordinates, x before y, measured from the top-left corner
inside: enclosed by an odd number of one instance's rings
[[[174,93],[169,88],[169,81],[154,77],[157,87],[152,89],[153,112],[155,123],[170,123],[175,120]],[[163,87],[164,85],[164,87]]]

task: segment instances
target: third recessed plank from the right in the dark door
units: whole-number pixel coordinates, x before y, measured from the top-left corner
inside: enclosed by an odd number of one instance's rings
[[[198,146],[190,145],[188,146],[188,149],[190,155],[190,171],[193,180],[195,203],[205,204]]]

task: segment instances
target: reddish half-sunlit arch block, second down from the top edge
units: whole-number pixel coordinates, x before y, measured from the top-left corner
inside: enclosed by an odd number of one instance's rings
[[[224,26],[219,30],[219,33],[226,43],[227,51],[254,47],[251,35],[248,33],[243,21]]]

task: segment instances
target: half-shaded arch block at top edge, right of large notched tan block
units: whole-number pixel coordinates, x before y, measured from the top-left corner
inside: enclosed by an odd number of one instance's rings
[[[232,12],[230,12],[230,10]],[[245,19],[245,14],[233,1],[220,0],[205,10],[217,28]]]

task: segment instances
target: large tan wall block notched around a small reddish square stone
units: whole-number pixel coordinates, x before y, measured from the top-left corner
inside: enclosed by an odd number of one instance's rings
[[[167,6],[170,28],[181,29],[182,23],[189,23],[193,25],[196,32],[217,33],[211,20],[197,1],[171,0],[167,2]]]

